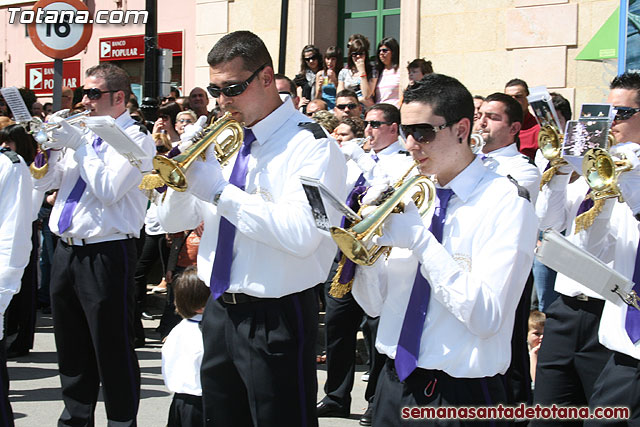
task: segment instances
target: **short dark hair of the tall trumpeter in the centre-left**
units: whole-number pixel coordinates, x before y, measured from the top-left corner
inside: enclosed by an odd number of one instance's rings
[[[215,67],[242,58],[244,69],[254,72],[263,65],[273,68],[271,55],[264,42],[251,31],[234,31],[222,37],[207,55],[209,66]]]

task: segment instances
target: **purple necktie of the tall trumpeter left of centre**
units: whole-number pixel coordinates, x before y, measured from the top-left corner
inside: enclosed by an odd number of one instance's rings
[[[229,183],[244,190],[247,181],[247,164],[249,163],[249,154],[251,154],[251,144],[256,140],[251,129],[244,130],[244,142],[242,148],[236,157],[236,163],[233,165]],[[220,218],[220,228],[218,229],[218,243],[216,245],[216,257],[213,260],[213,269],[211,270],[211,295],[213,299],[218,299],[220,295],[229,289],[231,282],[231,262],[233,261],[233,240],[236,236],[236,227],[227,221],[226,218]]]

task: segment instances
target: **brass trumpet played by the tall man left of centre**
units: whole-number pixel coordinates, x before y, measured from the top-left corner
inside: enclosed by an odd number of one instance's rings
[[[153,158],[154,171],[142,179],[139,188],[153,190],[166,184],[176,191],[185,191],[188,187],[186,172],[198,157],[205,159],[205,153],[214,144],[216,159],[224,166],[240,149],[244,138],[242,124],[231,118],[227,112],[212,125],[196,135],[197,142],[185,150],[184,153],[169,159],[165,156]]]

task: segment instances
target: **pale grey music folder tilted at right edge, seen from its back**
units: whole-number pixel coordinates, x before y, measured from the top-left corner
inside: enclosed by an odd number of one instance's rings
[[[633,288],[631,280],[555,230],[543,233],[541,245],[536,249],[536,258],[614,304],[620,301],[619,293],[628,294]]]

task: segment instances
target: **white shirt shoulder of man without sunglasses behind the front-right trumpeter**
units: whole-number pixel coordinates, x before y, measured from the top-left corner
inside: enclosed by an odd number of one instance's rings
[[[531,164],[529,158],[518,151],[515,143],[479,156],[486,156],[484,165],[498,175],[511,175],[529,191],[531,203],[536,204],[542,175],[536,165]]]

